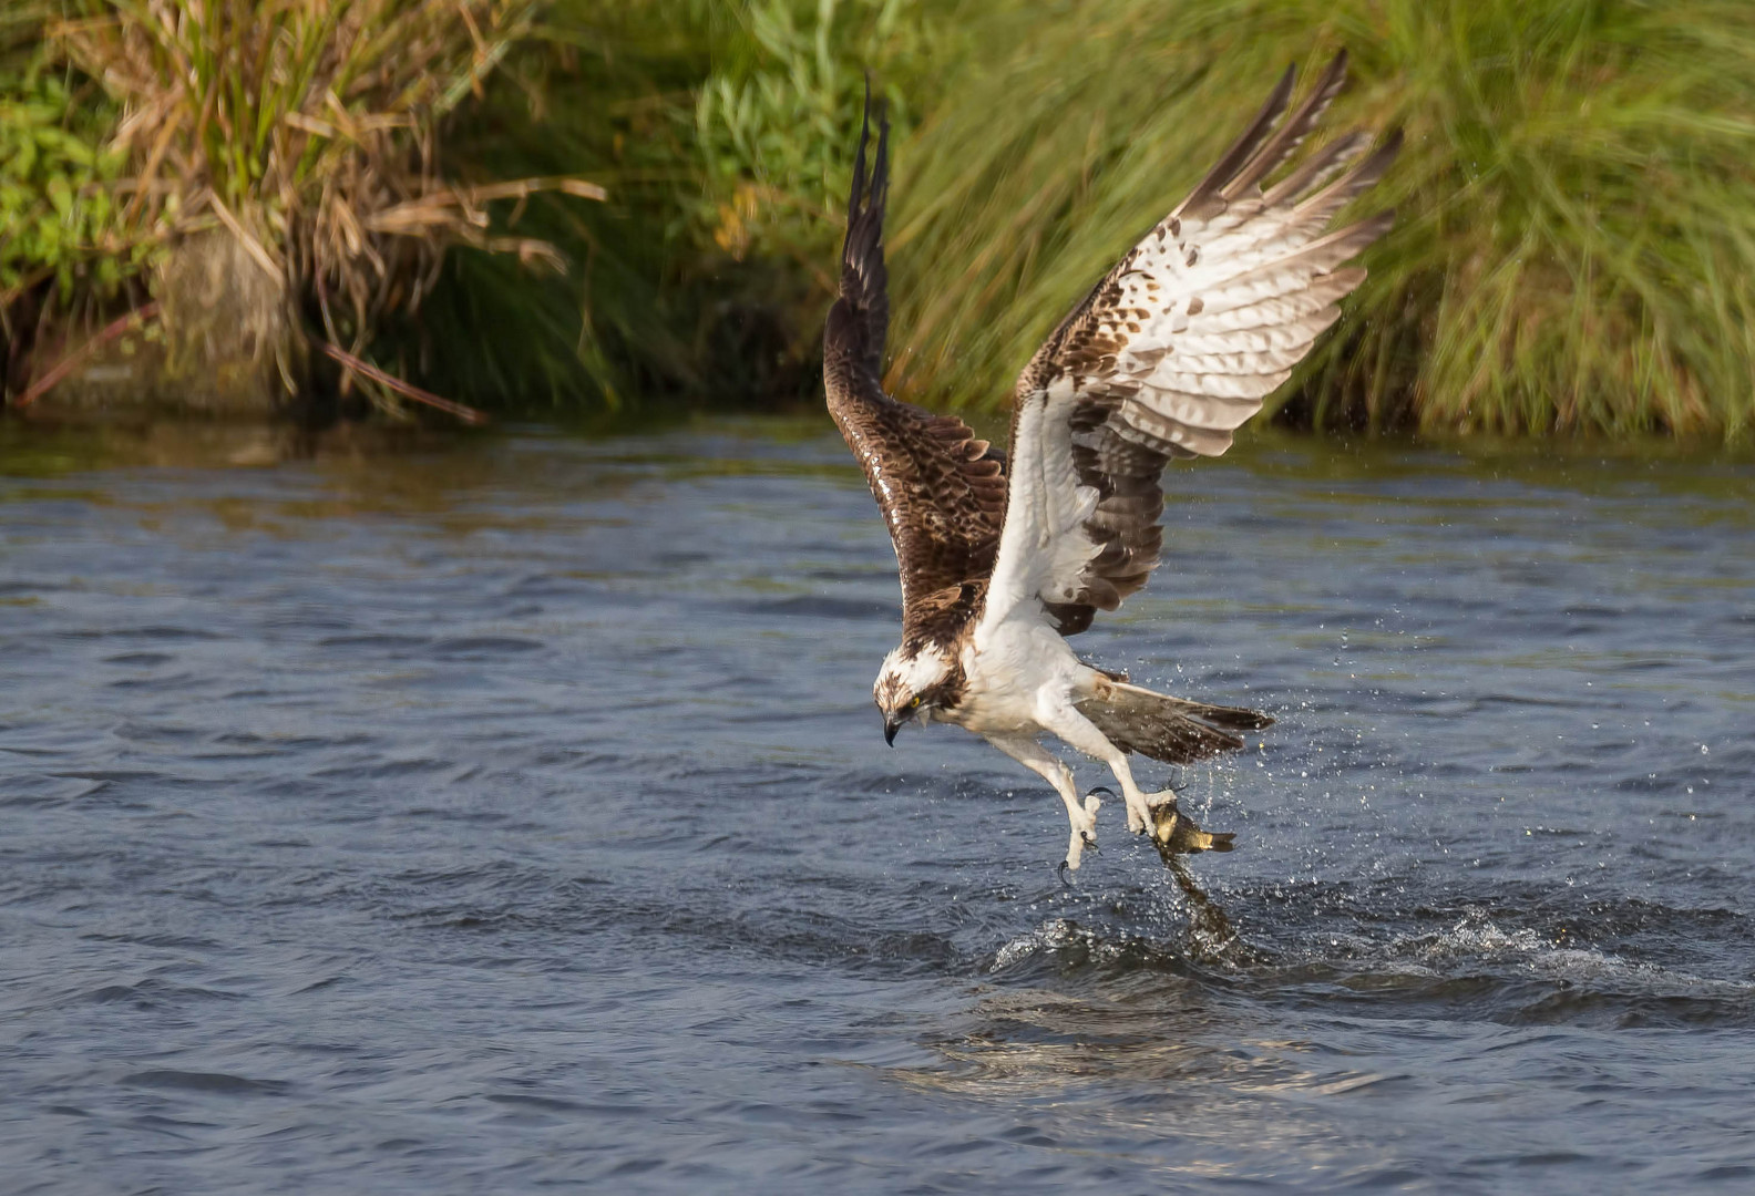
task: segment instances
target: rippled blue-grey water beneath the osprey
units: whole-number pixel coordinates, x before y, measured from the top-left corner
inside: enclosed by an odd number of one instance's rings
[[[1279,724],[1064,889],[825,431],[7,428],[7,1191],[1755,1185],[1755,468],[1176,470],[1079,647]]]

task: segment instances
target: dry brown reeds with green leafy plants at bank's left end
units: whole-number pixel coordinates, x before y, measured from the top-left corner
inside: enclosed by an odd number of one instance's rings
[[[91,314],[125,275],[156,300],[188,363],[274,363],[312,389],[311,349],[370,352],[412,317],[456,246],[563,263],[495,235],[488,205],[537,191],[600,198],[576,179],[449,177],[441,130],[528,33],[535,0],[28,0],[7,11],[0,170],[11,344],[77,337],[44,312]],[[21,196],[21,198],[12,198]],[[90,277],[68,267],[90,260]],[[146,274],[144,267],[154,270]],[[135,307],[130,303],[130,307]],[[239,330],[246,330],[239,337]],[[219,347],[225,345],[225,347]],[[191,358],[195,358],[191,361]],[[223,363],[212,360],[226,358]],[[349,367],[351,370],[351,367]],[[168,370],[167,370],[168,372]],[[176,370],[183,374],[183,370]],[[353,374],[342,388],[377,386]],[[193,386],[193,384],[191,384]],[[374,398],[397,410],[391,391]],[[23,398],[21,402],[30,402]]]

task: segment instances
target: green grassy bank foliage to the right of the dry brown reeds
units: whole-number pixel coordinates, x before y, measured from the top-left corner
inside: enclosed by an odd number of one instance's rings
[[[1746,0],[551,0],[442,125],[444,168],[609,198],[497,203],[567,272],[453,249],[376,356],[502,410],[814,402],[869,70],[895,123],[888,381],[999,410],[1278,72],[1343,46],[1329,128],[1406,128],[1365,200],[1400,217],[1283,423],[1746,435]]]

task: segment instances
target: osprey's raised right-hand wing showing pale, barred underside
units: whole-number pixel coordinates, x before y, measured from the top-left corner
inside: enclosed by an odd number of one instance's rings
[[[1339,316],[1392,223],[1329,231],[1395,158],[1353,130],[1274,186],[1346,81],[1346,54],[1279,121],[1288,68],[1206,179],[1037,349],[1018,379],[1006,530],[985,619],[1041,600],[1064,635],[1114,610],[1158,563],[1171,458],[1218,456]]]

